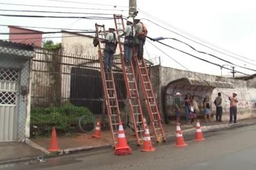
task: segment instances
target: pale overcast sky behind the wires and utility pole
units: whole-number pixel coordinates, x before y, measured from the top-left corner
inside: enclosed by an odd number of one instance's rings
[[[83,13],[117,13],[124,16],[128,15],[128,0],[70,0],[79,3],[67,3],[63,1],[52,0],[1,0],[0,3],[13,4],[33,4],[41,6],[68,6],[78,8],[97,8],[98,10],[81,10],[67,8],[46,8],[35,6],[13,6],[9,4],[0,4],[1,14],[17,15],[54,15],[54,16],[88,16],[78,14],[56,14],[56,13],[26,13],[1,10],[41,10],[41,11],[68,11]],[[93,3],[93,4],[92,4]],[[99,5],[105,4],[105,5]],[[107,5],[106,5],[107,4]],[[251,69],[256,69],[256,57],[254,45],[256,44],[256,4],[254,1],[230,1],[230,0],[180,0],[180,1],[147,1],[137,0],[137,7],[142,22],[147,25],[148,36],[152,38],[164,37],[175,38],[188,43],[196,50],[216,55],[221,59],[228,60],[236,64]],[[116,8],[114,7],[116,6]],[[101,9],[101,10],[99,10]],[[104,9],[104,10],[102,10]],[[120,10],[120,11],[116,11]],[[122,10],[122,11],[121,11]],[[145,14],[147,13],[147,14]],[[95,16],[95,15],[92,15]],[[97,15],[99,16],[99,15]],[[111,15],[106,15],[104,17]],[[150,21],[148,21],[150,20]],[[36,27],[59,27],[63,29],[95,29],[95,22],[105,24],[106,27],[114,27],[113,20],[86,20],[77,18],[17,18],[1,17],[2,25],[26,25]],[[158,24],[153,24],[152,22]],[[160,27],[159,27],[160,25]],[[163,28],[164,27],[164,28]],[[166,29],[169,29],[167,31]],[[58,31],[51,29],[36,29],[38,31]],[[8,32],[8,27],[0,27],[0,32]],[[177,34],[175,34],[176,32]],[[181,36],[180,36],[180,35]],[[44,35],[60,36],[60,34]],[[0,35],[0,39],[8,39],[8,36]],[[60,38],[52,38],[58,42]],[[191,41],[192,40],[192,41]],[[232,64],[218,60],[210,55],[198,53],[188,45],[184,45],[173,39],[164,39],[161,42],[183,50],[184,52],[200,57],[204,60],[214,62],[220,66],[213,66],[202,60],[195,59],[190,55],[184,54],[172,48],[163,46],[156,42],[145,43],[145,58],[156,61],[161,59],[161,65],[185,69],[206,74],[221,74],[221,67],[226,65],[231,69]],[[199,43],[195,43],[199,42]],[[157,48],[155,46],[157,46]],[[210,48],[208,48],[209,46]],[[160,50],[163,52],[161,52]],[[214,49],[214,50],[212,50]],[[230,53],[231,52],[231,53]],[[224,54],[223,54],[224,53]],[[168,56],[167,56],[167,55]],[[232,57],[230,57],[230,55]],[[172,58],[172,59],[171,59]],[[175,62],[174,60],[177,62]],[[236,71],[246,74],[254,74],[255,71],[243,69],[235,66]],[[229,70],[223,69],[223,75],[231,76]],[[236,74],[240,76],[240,73]]]

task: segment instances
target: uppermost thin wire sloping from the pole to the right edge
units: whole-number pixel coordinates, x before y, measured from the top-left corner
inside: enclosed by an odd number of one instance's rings
[[[225,50],[224,48],[221,48],[221,47],[219,47],[219,46],[212,45],[211,43],[205,41],[204,39],[198,38],[198,37],[194,36],[193,34],[190,34],[190,33],[186,32],[186,31],[183,31],[182,29],[179,29],[178,27],[175,27],[175,26],[173,26],[173,25],[171,25],[171,24],[168,24],[167,22],[164,22],[163,20],[161,20],[161,19],[159,19],[159,18],[157,18],[157,17],[154,17],[153,15],[150,15],[149,13],[147,13],[147,12],[145,12],[145,11],[143,11],[143,10],[140,10],[140,8],[138,8],[138,10],[141,11],[141,13],[143,13],[144,15],[147,15],[148,17],[153,18],[153,19],[156,20],[157,22],[160,22],[160,23],[162,23],[162,24],[164,24],[164,25],[167,25],[168,27],[170,27],[170,28],[172,28],[172,29],[175,29],[175,30],[177,30],[177,31],[179,31],[179,32],[182,32],[183,34],[186,34],[187,36],[190,36],[190,37],[192,37],[192,38],[194,38],[194,39],[198,39],[198,41],[202,41],[202,42],[204,42],[205,44],[209,44],[209,45],[214,46],[215,48],[219,48],[220,50],[223,50],[223,51],[225,51],[225,52],[232,53],[233,55],[237,55],[237,56],[239,56],[239,57],[241,57],[241,58],[243,58],[243,59],[247,59],[247,60],[251,60],[251,61],[253,61],[253,62],[256,62],[256,60],[249,59],[248,57],[244,57],[244,56],[242,56],[242,55],[239,55],[239,54],[230,52],[230,51]],[[191,40],[191,39],[189,39],[189,40]],[[192,40],[191,40],[191,41],[192,41]],[[197,43],[198,43],[198,42],[197,42]],[[200,44],[200,43],[199,43],[199,44]],[[200,44],[200,45],[201,45],[201,44]],[[204,45],[204,46],[205,46],[205,45]],[[206,46],[206,47],[207,47],[207,48],[210,48],[211,50],[215,50],[216,52],[223,53],[223,52],[220,52],[220,51],[218,51],[218,50],[216,50],[216,49],[214,49],[214,48],[211,48],[211,47],[209,47],[209,46]],[[223,54],[228,55],[227,53],[223,53]],[[237,57],[234,57],[234,56],[232,56],[232,55],[228,55],[228,56],[237,59]],[[238,60],[240,60],[240,59],[238,59]]]

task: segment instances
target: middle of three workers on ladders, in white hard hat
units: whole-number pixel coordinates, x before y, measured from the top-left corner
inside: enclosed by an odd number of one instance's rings
[[[126,22],[126,27],[124,29],[124,33],[120,36],[124,37],[124,61],[125,66],[131,65],[131,59],[132,59],[132,50],[133,50],[133,38],[135,35],[133,24],[133,19],[128,18]]]

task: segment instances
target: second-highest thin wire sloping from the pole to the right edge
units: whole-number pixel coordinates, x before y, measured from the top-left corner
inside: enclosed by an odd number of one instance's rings
[[[148,21],[151,22],[152,24],[155,24],[155,25],[157,25],[157,26],[159,26],[159,27],[165,29],[166,31],[173,32],[174,34],[177,34],[177,35],[179,35],[179,36],[182,36],[183,38],[189,39],[190,41],[193,41],[194,43],[197,43],[197,44],[199,44],[199,45],[202,45],[202,46],[205,46],[205,47],[207,47],[207,48],[210,48],[211,50],[214,50],[214,51],[216,51],[216,52],[222,53],[223,55],[227,55],[227,56],[232,57],[232,58],[234,58],[234,59],[241,60],[241,61],[243,61],[243,62],[246,62],[247,64],[252,64],[252,62],[248,62],[248,61],[246,61],[246,60],[239,59],[239,58],[237,58],[237,57],[234,57],[234,56],[232,56],[232,55],[229,55],[228,53],[220,52],[219,50],[216,50],[216,49],[212,48],[211,46],[204,45],[203,43],[200,43],[200,42],[198,42],[198,41],[195,41],[194,39],[191,39],[191,38],[188,38],[188,37],[186,37],[186,36],[183,36],[182,34],[179,34],[178,32],[175,32],[175,31],[172,31],[172,30],[170,30],[170,29],[167,29],[166,27],[163,27],[163,26],[157,24],[156,22],[153,22],[152,20],[149,20],[149,19],[147,19],[147,18],[142,18],[142,19],[148,20]],[[165,24],[165,25],[166,25],[166,24]],[[170,26],[169,26],[169,27],[170,27]],[[174,28],[173,28],[173,29],[174,29]],[[180,32],[182,32],[182,31],[180,31]],[[183,33],[184,33],[184,32],[183,32]],[[185,34],[185,33],[184,33],[184,34]],[[192,36],[192,37],[193,37],[193,36]],[[193,37],[193,38],[195,38],[195,37]],[[195,39],[196,39],[196,38],[195,38]],[[203,40],[200,40],[200,41],[203,41]],[[203,42],[204,42],[204,41],[203,41]],[[207,43],[207,42],[205,41],[204,43]],[[212,45],[212,46],[213,46],[213,45]],[[217,47],[217,48],[220,48],[220,47]],[[225,50],[225,49],[221,49],[221,50],[228,52],[228,51]],[[229,53],[232,53],[232,52],[229,52]],[[233,53],[233,54],[234,54],[234,55],[237,55],[236,53]],[[239,56],[239,55],[237,55],[237,56]],[[255,62],[255,60],[248,59],[247,57],[243,57],[243,56],[239,56],[239,57],[242,57],[242,58],[244,58],[244,59],[251,60],[251,61],[254,61],[254,62]],[[256,66],[256,64],[252,64],[252,65],[253,65],[253,66]]]

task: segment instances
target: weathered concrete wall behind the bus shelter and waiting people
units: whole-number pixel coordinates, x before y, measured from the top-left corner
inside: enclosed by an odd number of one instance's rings
[[[237,99],[239,103],[237,104],[238,108],[238,118],[248,118],[255,117],[255,101],[256,101],[256,89],[255,89],[255,80],[244,81],[244,80],[234,80],[232,78],[224,78],[220,76],[214,76],[210,74],[202,74],[202,73],[193,73],[189,71],[184,71],[180,69],[173,69],[170,67],[162,67],[162,66],[154,66],[150,67],[150,79],[154,83],[152,83],[153,88],[157,96],[157,101],[159,102],[159,111],[163,114],[163,101],[164,101],[164,87],[168,85],[173,80],[177,80],[179,78],[188,77],[195,78],[198,80],[207,80],[207,81],[225,81],[234,83],[235,89],[225,89],[225,88],[216,88],[211,93],[211,110],[212,113],[215,113],[216,108],[214,107],[214,99],[216,98],[218,92],[223,94],[223,111],[224,111],[224,120],[229,118],[229,100],[228,96],[232,96],[232,92],[237,92]],[[158,78],[159,77],[159,78]],[[157,83],[157,79],[159,79]],[[157,89],[158,92],[156,91]],[[200,103],[199,103],[200,104]],[[254,104],[254,106],[253,106]]]

